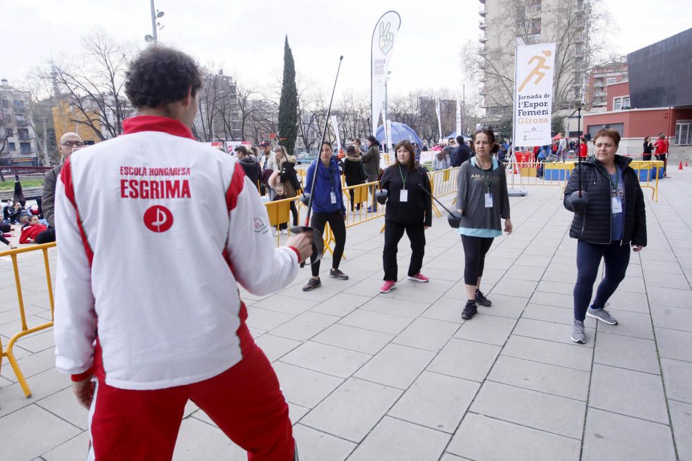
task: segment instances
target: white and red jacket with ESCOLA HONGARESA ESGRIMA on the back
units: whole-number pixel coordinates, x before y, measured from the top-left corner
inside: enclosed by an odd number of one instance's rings
[[[57,182],[56,366],[122,389],[199,382],[252,344],[238,284],[286,287],[298,252],[275,247],[234,158],[169,118],[123,128],[70,156]]]

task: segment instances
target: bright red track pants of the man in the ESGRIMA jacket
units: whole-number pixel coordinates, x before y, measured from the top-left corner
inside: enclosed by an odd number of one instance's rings
[[[221,375],[186,386],[128,391],[101,380],[89,415],[89,459],[171,460],[188,399],[248,451],[248,460],[293,460],[289,407],[255,344]]]

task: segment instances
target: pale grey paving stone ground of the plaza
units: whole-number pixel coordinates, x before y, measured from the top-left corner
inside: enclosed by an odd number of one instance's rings
[[[303,460],[692,460],[692,169],[647,195],[648,247],[610,300],[618,326],[586,322],[570,341],[576,241],[557,187],[511,198],[515,232],[496,239],[471,321],[463,250],[446,218],[426,232],[424,274],[379,294],[383,221],[349,229],[341,269],[302,292],[309,271],[266,297],[242,293],[273,362]],[[445,198],[449,203],[451,197]],[[55,254],[51,252],[51,261]],[[30,326],[50,318],[40,255],[19,256]],[[15,281],[0,258],[0,338],[19,331]],[[7,359],[0,375],[0,460],[80,460],[87,415],[54,368],[53,334],[17,342],[33,397]],[[244,460],[194,404],[176,460]]]

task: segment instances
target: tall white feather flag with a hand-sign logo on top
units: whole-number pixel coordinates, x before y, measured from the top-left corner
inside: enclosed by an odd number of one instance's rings
[[[372,31],[372,45],[370,49],[370,102],[372,109],[372,134],[377,131],[380,113],[383,111],[387,84],[387,74],[392,48],[397,40],[397,33],[401,27],[401,17],[396,11],[385,12],[375,24]]]

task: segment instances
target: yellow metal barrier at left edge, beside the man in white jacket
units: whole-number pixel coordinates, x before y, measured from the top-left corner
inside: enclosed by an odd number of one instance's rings
[[[55,243],[44,243],[43,245],[33,245],[30,247],[17,248],[16,250],[6,250],[0,252],[0,257],[10,256],[12,258],[12,270],[15,272],[15,285],[17,288],[17,302],[19,303],[19,317],[21,318],[21,331],[17,335],[10,338],[10,342],[7,344],[7,348],[3,349],[2,341],[0,340],[0,350],[2,351],[2,357],[7,357],[10,361],[10,366],[15,372],[19,386],[21,390],[24,391],[24,395],[28,398],[31,397],[31,390],[29,385],[24,378],[24,373],[21,373],[19,364],[17,364],[17,359],[15,359],[15,354],[12,352],[12,348],[15,346],[17,340],[26,335],[31,335],[37,331],[45,330],[46,328],[51,328],[53,326],[53,313],[55,311],[55,303],[53,301],[53,283],[51,282],[51,266],[48,263],[48,248],[55,247]],[[46,265],[46,283],[48,284],[48,299],[51,303],[51,321],[43,323],[42,325],[29,328],[26,324],[26,313],[24,312],[24,297],[21,294],[21,281],[19,279],[19,267],[17,266],[17,254],[36,252],[41,250],[44,254],[44,264]],[[1,358],[1,357],[0,357]],[[2,361],[0,361],[0,368],[2,366]]]

